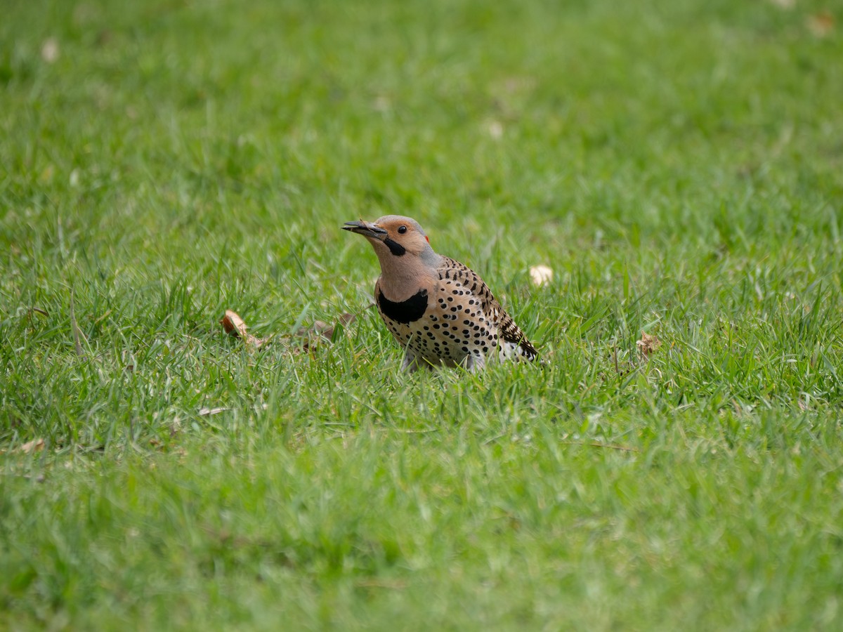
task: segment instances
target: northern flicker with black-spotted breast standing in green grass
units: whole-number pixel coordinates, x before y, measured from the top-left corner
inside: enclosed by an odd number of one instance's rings
[[[378,255],[375,302],[405,348],[405,371],[434,365],[477,371],[489,362],[538,356],[480,276],[433,252],[416,220],[387,215],[342,228],[367,238]]]

